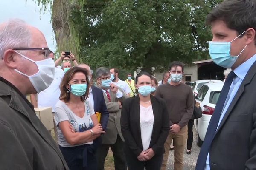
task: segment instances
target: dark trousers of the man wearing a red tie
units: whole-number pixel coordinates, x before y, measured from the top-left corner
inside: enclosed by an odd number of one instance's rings
[[[117,135],[116,143],[101,144],[97,149],[96,157],[98,160],[98,170],[104,170],[105,158],[108,154],[109,147],[113,152],[115,170],[127,170],[124,142],[119,135]]]

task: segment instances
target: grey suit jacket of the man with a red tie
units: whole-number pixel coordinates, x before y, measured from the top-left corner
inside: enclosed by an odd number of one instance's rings
[[[103,144],[116,143],[118,134],[120,135],[122,141],[124,141],[120,125],[121,109],[119,109],[119,104],[117,102],[120,101],[121,103],[123,103],[128,96],[123,92],[121,88],[118,87],[118,89],[122,92],[123,96],[121,98],[117,98],[116,95],[110,91],[109,94],[111,102],[108,101],[107,95],[102,91],[107,106],[107,110],[109,112],[106,133],[102,134]]]

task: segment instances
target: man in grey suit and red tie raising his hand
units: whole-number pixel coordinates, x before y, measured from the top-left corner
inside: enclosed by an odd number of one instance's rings
[[[100,67],[96,70],[97,87],[102,89],[105,103],[109,112],[106,133],[102,135],[102,145],[98,149],[97,159],[99,170],[104,170],[105,158],[109,147],[113,152],[115,169],[126,170],[124,154],[124,138],[121,133],[120,117],[122,103],[127,96],[121,88],[114,85],[110,80],[108,68]]]

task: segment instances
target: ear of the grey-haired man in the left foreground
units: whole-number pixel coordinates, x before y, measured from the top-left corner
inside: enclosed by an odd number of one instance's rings
[[[3,60],[9,68],[17,68],[17,58],[17,53],[11,49],[6,50],[3,54]]]

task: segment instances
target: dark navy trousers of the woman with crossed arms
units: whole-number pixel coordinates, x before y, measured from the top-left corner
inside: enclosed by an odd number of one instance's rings
[[[59,146],[59,148],[70,170],[97,170],[97,160],[92,145]]]

